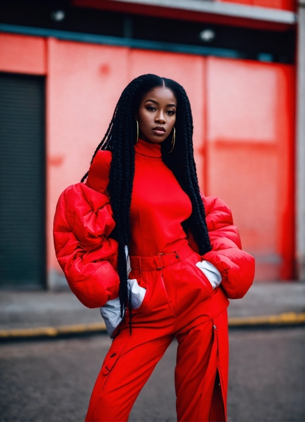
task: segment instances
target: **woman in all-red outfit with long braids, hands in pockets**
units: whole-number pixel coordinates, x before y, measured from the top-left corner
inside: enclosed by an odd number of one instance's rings
[[[200,193],[192,129],[181,85],[134,79],[89,172],[59,198],[58,261],[114,338],[87,421],[127,420],[175,337],[178,420],[226,420],[228,297],[248,291],[254,260],[226,204]]]

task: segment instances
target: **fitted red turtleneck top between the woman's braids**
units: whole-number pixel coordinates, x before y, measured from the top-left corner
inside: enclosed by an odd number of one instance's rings
[[[135,145],[135,177],[130,227],[130,255],[154,256],[188,244],[181,223],[192,205],[161,158],[161,146],[142,139]]]

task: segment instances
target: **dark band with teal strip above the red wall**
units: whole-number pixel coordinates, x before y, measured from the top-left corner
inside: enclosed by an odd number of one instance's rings
[[[60,12],[60,13],[59,13]],[[295,26],[284,31],[0,0],[1,31],[198,55],[294,63]]]

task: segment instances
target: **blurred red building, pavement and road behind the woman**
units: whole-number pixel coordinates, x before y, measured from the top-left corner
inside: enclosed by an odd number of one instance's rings
[[[110,340],[69,292],[53,217],[144,73],[186,89],[201,189],[256,259],[229,307],[229,420],[304,420],[304,0],[0,0],[0,420],[84,417]],[[130,420],[175,420],[175,347]]]

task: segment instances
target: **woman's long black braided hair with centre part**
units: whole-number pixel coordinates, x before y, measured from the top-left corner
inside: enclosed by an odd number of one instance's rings
[[[177,99],[175,148],[172,153],[168,154],[171,149],[172,135],[170,134],[161,145],[162,159],[176,176],[192,203],[192,214],[183,223],[184,229],[192,232],[201,254],[211,250],[205,221],[205,210],[199,191],[194,161],[192,144],[193,120],[187,94],[179,83],[171,79],[160,78],[152,74],[139,76],[123,90],[106,134],[92,157],[93,161],[100,149],[112,152],[108,185],[110,202],[116,222],[112,237],[118,242],[121,317],[124,317],[128,308],[130,330],[131,298],[130,290],[128,289],[125,245],[128,245],[130,240],[130,203],[135,174],[134,145],[137,140],[135,115],[143,96],[152,89],[161,86],[169,88]],[[81,181],[83,182],[87,176],[88,173],[84,175]]]

